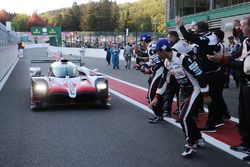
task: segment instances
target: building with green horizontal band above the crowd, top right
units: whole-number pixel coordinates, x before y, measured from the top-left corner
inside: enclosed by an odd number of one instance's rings
[[[211,29],[232,35],[233,20],[250,15],[250,0],[167,0],[167,30],[175,30],[175,16],[185,24],[208,21]]]

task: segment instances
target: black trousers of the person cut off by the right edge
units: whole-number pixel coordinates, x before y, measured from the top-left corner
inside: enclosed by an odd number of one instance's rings
[[[239,95],[239,132],[242,144],[250,149],[250,85],[241,83]]]

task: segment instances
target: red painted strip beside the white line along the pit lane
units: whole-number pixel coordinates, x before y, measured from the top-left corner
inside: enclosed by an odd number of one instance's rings
[[[128,84],[119,82],[117,80],[108,78],[109,87],[145,106],[148,105],[148,100],[146,99],[147,92],[145,90],[130,86]],[[176,110],[176,103],[172,106],[172,111]],[[177,119],[178,117],[174,114],[173,118]],[[198,127],[202,127],[207,121],[207,113],[199,114],[199,118],[196,120]],[[235,126],[236,123],[233,121],[225,121],[225,125],[218,128],[216,133],[206,133],[207,135],[225,143],[228,145],[237,145],[240,143],[240,135],[238,128]]]

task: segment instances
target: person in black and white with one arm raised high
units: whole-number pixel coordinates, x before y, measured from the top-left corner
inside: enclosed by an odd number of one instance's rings
[[[209,32],[208,23],[201,21],[197,23],[198,34],[193,35],[187,32],[180,17],[176,17],[176,24],[179,27],[183,37],[191,42],[199,45],[197,62],[200,64],[204,73],[206,81],[209,85],[209,94],[212,98],[211,104],[208,105],[208,120],[206,125],[201,128],[202,131],[216,132],[216,127],[224,125],[223,111],[220,105],[223,104],[223,87],[224,87],[224,74],[221,71],[219,63],[208,60],[207,54],[220,51],[220,45],[217,45],[217,37]]]

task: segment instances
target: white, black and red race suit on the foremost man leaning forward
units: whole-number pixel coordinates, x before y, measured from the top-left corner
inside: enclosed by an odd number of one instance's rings
[[[186,141],[194,145],[201,138],[200,130],[193,119],[197,112],[197,103],[200,96],[208,96],[208,85],[205,82],[204,74],[198,63],[192,56],[173,51],[171,60],[164,61],[164,74],[157,89],[156,98],[165,92],[167,75],[173,75],[180,84],[181,96],[185,98],[180,113],[180,123],[185,134]]]

